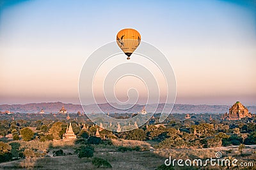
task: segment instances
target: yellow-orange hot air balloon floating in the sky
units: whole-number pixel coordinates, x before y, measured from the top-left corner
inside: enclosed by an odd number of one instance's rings
[[[116,42],[121,50],[127,55],[127,60],[140,45],[140,33],[135,29],[122,29],[116,35]]]

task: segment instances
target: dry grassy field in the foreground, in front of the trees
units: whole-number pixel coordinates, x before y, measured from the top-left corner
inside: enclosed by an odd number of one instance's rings
[[[132,141],[132,140],[114,140],[114,145],[97,145],[95,146],[94,157],[100,157],[108,160],[111,164],[112,169],[157,169],[157,167],[164,164],[164,160],[170,155],[172,159],[209,159],[210,157],[215,158],[216,152],[221,152],[223,157],[236,157],[240,162],[247,161],[256,162],[255,146],[246,146],[244,148],[243,155],[237,151],[237,147],[223,147],[216,149],[172,149],[172,150],[154,150],[154,151],[127,151],[119,152],[118,146],[145,146],[148,149],[150,144],[147,141]],[[95,168],[92,164],[92,158],[79,159],[74,153],[76,146],[72,145],[58,145],[54,143],[49,149],[49,153],[53,150],[63,149],[66,153],[65,156],[60,157],[38,157],[38,158],[27,158],[14,160],[12,162],[4,162],[0,164],[0,169],[102,169]],[[71,155],[72,154],[72,155]],[[255,169],[255,166],[253,166]],[[253,169],[251,167],[251,169]],[[175,169],[198,169],[198,167],[178,167]],[[202,168],[202,167],[201,167]],[[204,167],[206,168],[206,167]],[[108,169],[108,168],[104,168]],[[207,169],[227,169],[227,167],[207,167]],[[239,168],[243,169],[243,168]]]

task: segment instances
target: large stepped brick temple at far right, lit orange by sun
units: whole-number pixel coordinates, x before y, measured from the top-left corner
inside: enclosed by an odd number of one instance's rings
[[[240,120],[241,118],[252,118],[252,113],[249,113],[248,109],[244,107],[242,103],[237,101],[231,108],[229,113],[225,113],[224,117],[227,120]]]

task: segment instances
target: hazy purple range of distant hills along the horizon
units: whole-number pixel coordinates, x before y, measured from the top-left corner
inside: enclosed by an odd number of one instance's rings
[[[14,113],[38,113],[41,108],[44,109],[45,113],[58,113],[62,106],[65,106],[68,113],[77,113],[77,111],[82,112],[83,109],[80,104],[71,103],[29,103],[29,104],[2,104],[0,105],[0,111],[13,111]],[[143,108],[143,105],[136,104],[129,110],[116,110],[110,104],[99,104],[100,108],[104,112],[109,113],[137,113]],[[153,111],[156,104],[148,104],[146,110],[148,112]],[[164,104],[159,104],[157,113],[163,108]],[[167,108],[172,108],[172,104],[166,104]],[[175,104],[172,113],[226,113],[231,106],[227,105],[193,105],[193,104]],[[256,113],[256,106],[246,106],[251,113]],[[96,104],[89,104],[85,106],[86,111],[92,113],[97,110]]]

